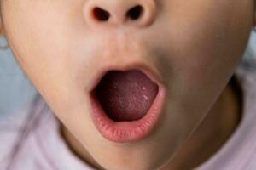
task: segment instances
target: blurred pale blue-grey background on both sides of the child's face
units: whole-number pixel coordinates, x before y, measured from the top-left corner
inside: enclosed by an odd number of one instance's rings
[[[4,37],[0,37],[0,45],[5,43]],[[256,64],[256,33],[253,31],[243,62]],[[12,51],[0,51],[0,116],[18,112],[20,107],[29,105],[36,93],[37,90],[21,71]]]

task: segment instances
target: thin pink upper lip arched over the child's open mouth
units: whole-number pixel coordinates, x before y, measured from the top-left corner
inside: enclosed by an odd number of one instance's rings
[[[100,70],[96,73],[96,77],[93,80],[89,91],[92,92],[97,84],[101,81],[102,77],[108,72],[108,71],[128,71],[128,70],[138,70],[142,71],[145,75],[147,75],[153,82],[157,83],[158,85],[163,84],[161,77],[158,73],[158,71],[148,64],[145,64],[145,62],[129,62],[125,64],[119,64],[119,65],[104,65]]]

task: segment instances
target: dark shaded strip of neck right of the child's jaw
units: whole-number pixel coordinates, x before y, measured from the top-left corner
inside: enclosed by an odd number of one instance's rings
[[[195,133],[161,170],[193,169],[212,157],[230,138],[241,120],[241,88],[232,77]]]

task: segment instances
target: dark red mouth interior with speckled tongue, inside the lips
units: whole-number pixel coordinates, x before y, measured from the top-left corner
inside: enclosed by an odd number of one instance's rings
[[[115,122],[145,116],[157,93],[157,84],[137,70],[108,71],[96,87],[102,109]]]

